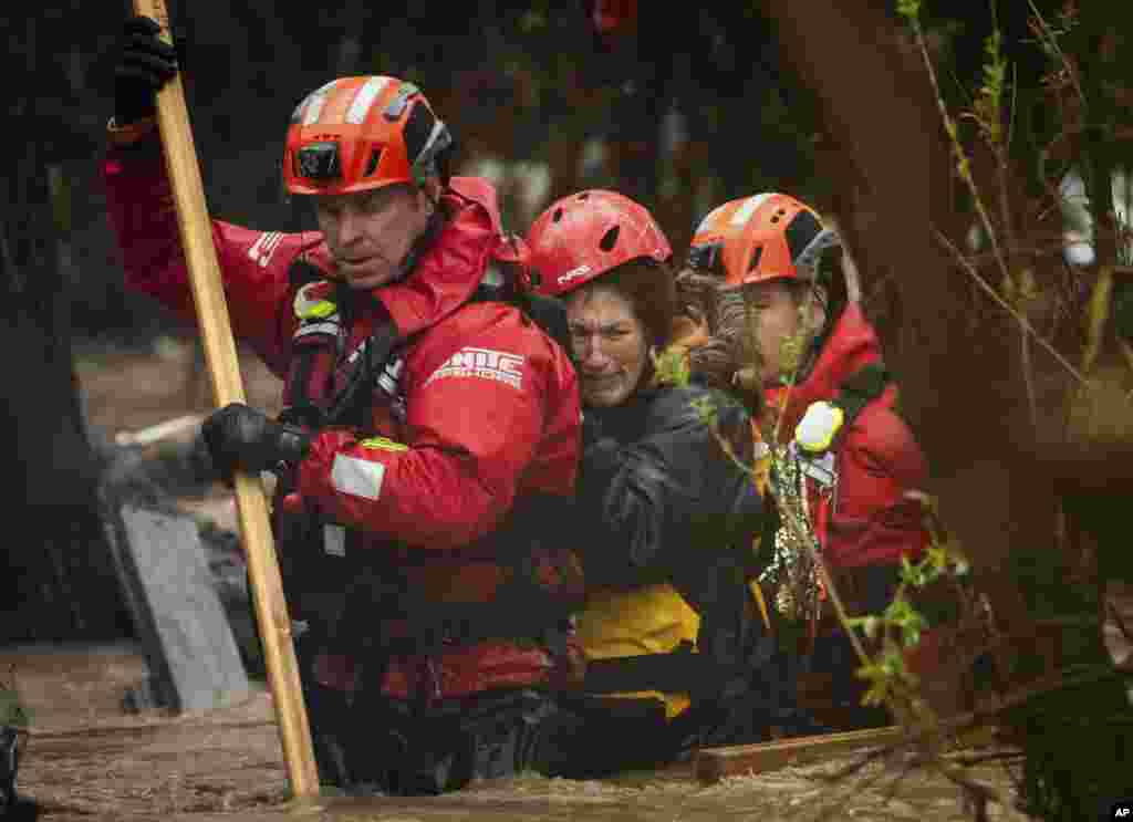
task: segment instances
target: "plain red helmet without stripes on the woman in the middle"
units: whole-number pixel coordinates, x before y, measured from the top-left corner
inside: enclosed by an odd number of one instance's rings
[[[559,297],[631,259],[665,263],[673,249],[642,206],[593,189],[552,203],[527,232],[540,293]]]

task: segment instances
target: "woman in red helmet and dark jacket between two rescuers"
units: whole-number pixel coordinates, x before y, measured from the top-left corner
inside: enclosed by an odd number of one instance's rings
[[[721,392],[658,375],[675,289],[668,241],[645,208],[612,191],[571,195],[528,245],[538,288],[565,303],[579,375],[573,537],[588,586],[576,635],[586,675],[534,759],[574,778],[655,768],[733,740],[730,712],[770,656],[747,584],[763,524],[736,464],[751,460],[750,418]]]

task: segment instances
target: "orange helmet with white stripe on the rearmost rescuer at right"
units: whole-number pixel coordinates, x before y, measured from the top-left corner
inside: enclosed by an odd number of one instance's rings
[[[825,249],[840,243],[818,213],[785,194],[763,194],[742,229],[727,233],[721,249],[723,289],[769,280],[811,280]]]

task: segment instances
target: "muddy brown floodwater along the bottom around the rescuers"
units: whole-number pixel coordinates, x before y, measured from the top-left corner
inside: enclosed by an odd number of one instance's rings
[[[897,763],[868,767],[836,787],[823,781],[851,756],[819,765],[701,785],[691,770],[629,774],[611,781],[529,776],[479,782],[459,794],[424,798],[288,802],[287,779],[271,697],[262,685],[207,712],[130,714],[122,701],[146,674],[131,645],[0,649],[0,668],[14,666],[31,737],[20,764],[20,794],[41,820],[578,820],[580,822],[709,822],[715,820],[968,819],[944,779],[906,776]],[[976,771],[1013,797],[999,764]],[[893,798],[887,798],[892,794]],[[1023,820],[993,807],[991,819]]]

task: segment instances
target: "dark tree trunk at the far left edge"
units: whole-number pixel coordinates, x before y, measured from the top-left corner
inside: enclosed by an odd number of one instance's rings
[[[16,89],[9,115],[29,123],[27,134],[37,136],[16,140],[0,161],[6,368],[0,459],[9,529],[0,543],[0,642],[118,637],[129,628],[102,531],[100,464],[86,436],[71,363],[48,173],[52,144],[36,130],[43,118],[37,95],[66,87],[66,80],[62,63],[40,48],[45,27],[35,18],[24,23],[24,51],[5,58],[5,76]]]

